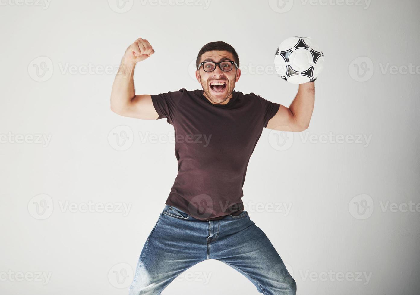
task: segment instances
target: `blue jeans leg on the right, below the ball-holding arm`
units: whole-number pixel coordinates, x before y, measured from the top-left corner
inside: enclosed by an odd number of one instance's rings
[[[263,294],[296,293],[296,282],[280,255],[249,216],[224,220],[212,255],[244,274]]]

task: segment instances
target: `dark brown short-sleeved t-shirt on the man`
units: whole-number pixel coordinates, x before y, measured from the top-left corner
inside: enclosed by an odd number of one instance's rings
[[[213,104],[203,90],[152,96],[159,117],[175,131],[178,175],[165,204],[199,220],[244,211],[242,186],[249,158],[279,104],[254,93],[233,91],[227,104]]]

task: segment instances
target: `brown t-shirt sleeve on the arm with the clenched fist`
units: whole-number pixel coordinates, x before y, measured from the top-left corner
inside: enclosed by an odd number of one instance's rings
[[[173,124],[176,118],[178,104],[181,98],[181,91],[169,91],[160,94],[151,94],[152,103],[155,107],[157,119],[167,118],[169,124]]]

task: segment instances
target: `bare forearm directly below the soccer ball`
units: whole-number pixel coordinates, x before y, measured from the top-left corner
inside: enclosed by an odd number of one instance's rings
[[[314,83],[299,84],[299,90],[292,101],[289,109],[294,117],[294,121],[306,129],[309,126],[312,117],[312,111],[315,103],[315,85]]]

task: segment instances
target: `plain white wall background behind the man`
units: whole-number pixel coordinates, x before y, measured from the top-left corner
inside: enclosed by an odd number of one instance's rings
[[[166,119],[110,111],[126,47],[142,37],[155,49],[136,66],[137,94],[201,89],[192,61],[206,43],[225,41],[243,70],[235,90],[289,106],[298,86],[272,69],[276,47],[290,36],[314,38],[325,54],[315,109],[304,132],[263,130],[247,170],[245,209],[293,273],[298,294],[417,294],[418,1],[0,3],[2,294],[128,293],[177,163],[173,143],[147,137],[173,135]],[[410,63],[414,70],[404,74]],[[255,66],[264,70],[252,72]],[[114,133],[125,130],[133,133],[118,150]],[[115,210],[81,212],[89,201]],[[410,202],[414,210],[405,210]],[[131,206],[128,215],[118,203]],[[123,268],[127,277],[117,281],[114,271]],[[38,272],[49,280],[30,278]],[[181,275],[163,294],[259,294],[219,261],[187,272],[192,279]]]

